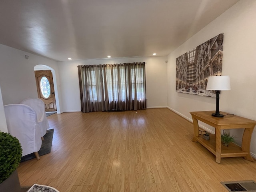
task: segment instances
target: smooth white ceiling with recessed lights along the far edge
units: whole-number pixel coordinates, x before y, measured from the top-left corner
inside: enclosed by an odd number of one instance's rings
[[[236,2],[0,0],[0,44],[58,61],[167,56]]]

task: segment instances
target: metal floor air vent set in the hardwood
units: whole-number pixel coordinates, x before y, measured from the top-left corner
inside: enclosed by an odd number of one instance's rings
[[[249,181],[231,181],[220,182],[229,192],[233,191],[248,191],[256,192],[256,183],[252,180]]]

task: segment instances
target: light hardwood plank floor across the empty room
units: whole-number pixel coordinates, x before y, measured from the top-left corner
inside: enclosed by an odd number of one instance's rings
[[[48,117],[52,151],[20,163],[22,186],[60,192],[227,192],[255,180],[256,162],[215,156],[192,142],[193,125],[167,108]],[[241,136],[242,137],[242,136]]]

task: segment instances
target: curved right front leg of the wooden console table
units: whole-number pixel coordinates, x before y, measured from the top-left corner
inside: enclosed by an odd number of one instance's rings
[[[244,129],[244,134],[242,139],[242,151],[248,152],[248,154],[244,157],[246,160],[254,162],[254,159],[250,154],[250,144],[251,144],[253,129],[254,129],[254,125],[252,125],[252,128]]]

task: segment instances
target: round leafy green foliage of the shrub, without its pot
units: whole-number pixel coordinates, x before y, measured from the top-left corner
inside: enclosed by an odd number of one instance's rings
[[[0,132],[0,183],[16,170],[21,156],[19,140],[8,133]]]

